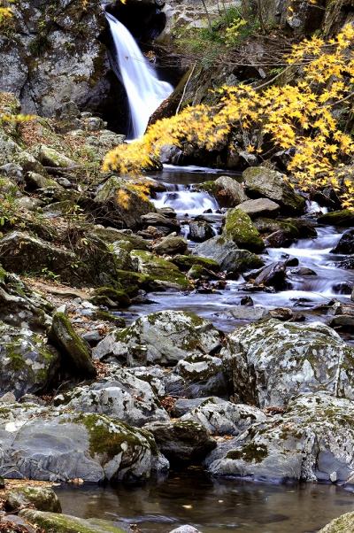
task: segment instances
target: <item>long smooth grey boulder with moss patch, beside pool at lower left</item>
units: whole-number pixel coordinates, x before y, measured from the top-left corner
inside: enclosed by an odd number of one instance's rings
[[[148,432],[67,408],[7,405],[0,442],[0,474],[14,479],[135,481],[168,467]]]

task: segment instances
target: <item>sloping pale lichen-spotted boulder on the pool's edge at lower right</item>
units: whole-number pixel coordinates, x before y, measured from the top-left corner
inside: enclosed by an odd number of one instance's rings
[[[301,394],[282,416],[219,444],[205,462],[213,475],[345,483],[354,468],[352,413],[350,400]]]

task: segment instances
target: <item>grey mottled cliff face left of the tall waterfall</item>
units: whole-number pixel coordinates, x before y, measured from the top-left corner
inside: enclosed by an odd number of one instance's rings
[[[89,0],[45,0],[13,7],[11,31],[0,40],[0,90],[21,98],[24,112],[44,116],[73,101],[85,111],[101,107],[111,89],[101,5]]]

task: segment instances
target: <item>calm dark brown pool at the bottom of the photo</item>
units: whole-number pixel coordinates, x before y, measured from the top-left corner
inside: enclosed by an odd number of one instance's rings
[[[142,533],[185,523],[203,533],[310,533],[354,511],[354,495],[335,485],[266,485],[212,480],[190,470],[159,483],[118,488],[58,488],[63,512],[98,517]]]

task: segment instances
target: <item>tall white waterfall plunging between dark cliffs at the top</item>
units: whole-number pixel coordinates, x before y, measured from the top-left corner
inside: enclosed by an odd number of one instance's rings
[[[173,87],[166,81],[158,80],[157,73],[142,55],[127,27],[111,13],[106,12],[106,17],[112,32],[120,74],[127,91],[132,136],[137,138],[144,134],[150,116],[172,93]]]

